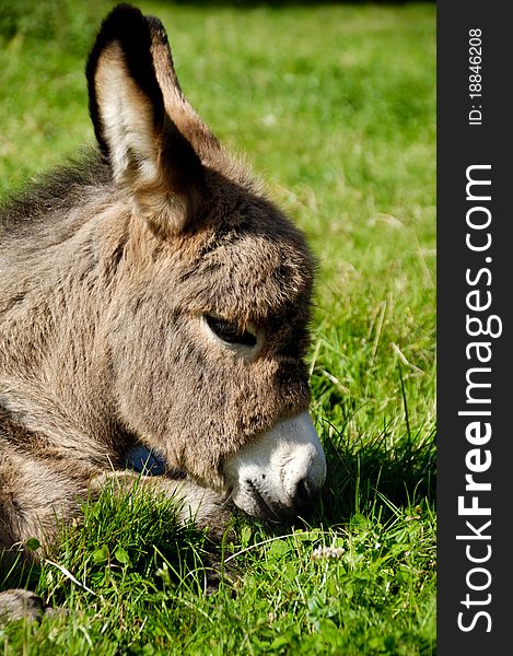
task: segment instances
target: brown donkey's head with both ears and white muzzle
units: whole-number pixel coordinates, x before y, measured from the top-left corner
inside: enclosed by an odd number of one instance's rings
[[[86,74],[119,210],[104,320],[119,420],[247,513],[294,515],[326,467],[304,238],[185,99],[156,19],[114,9]]]

